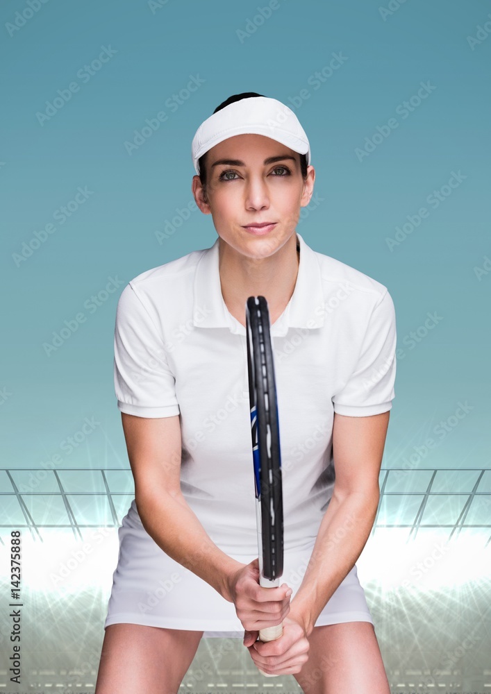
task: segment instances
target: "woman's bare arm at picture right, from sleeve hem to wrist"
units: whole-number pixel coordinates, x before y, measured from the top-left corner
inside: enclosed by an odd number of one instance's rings
[[[390,411],[367,417],[334,414],[335,483],[289,617],[309,636],[317,617],[353,568],[372,530]]]

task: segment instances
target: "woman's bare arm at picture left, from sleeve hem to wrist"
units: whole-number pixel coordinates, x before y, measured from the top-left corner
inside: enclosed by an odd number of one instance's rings
[[[233,602],[230,579],[244,565],[213,543],[181,493],[179,416],[143,418],[123,412],[122,423],[144,529],[169,557]]]

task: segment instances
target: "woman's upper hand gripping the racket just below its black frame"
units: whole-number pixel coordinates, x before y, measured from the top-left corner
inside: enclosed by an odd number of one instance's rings
[[[259,559],[244,564],[228,582],[228,593],[245,631],[256,631],[281,624],[290,612],[288,584],[278,588],[259,585]]]

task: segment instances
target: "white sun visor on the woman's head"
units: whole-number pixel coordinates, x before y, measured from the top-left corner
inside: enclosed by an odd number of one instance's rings
[[[276,139],[294,152],[307,155],[310,145],[299,119],[284,103],[269,96],[249,96],[213,113],[197,129],[191,146],[194,169],[199,174],[198,160],[215,144],[234,135],[254,133]]]

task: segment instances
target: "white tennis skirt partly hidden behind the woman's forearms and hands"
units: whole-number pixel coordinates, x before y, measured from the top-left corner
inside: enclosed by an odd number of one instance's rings
[[[104,628],[130,623],[203,632],[203,638],[242,638],[244,627],[235,605],[192,571],[165,554],[144,529],[135,501],[119,527],[119,558],[113,574]],[[285,550],[283,575],[294,598],[312,554],[313,544]],[[249,564],[258,556],[226,552]],[[370,622],[365,591],[353,566],[319,614],[316,627],[342,622]]]

